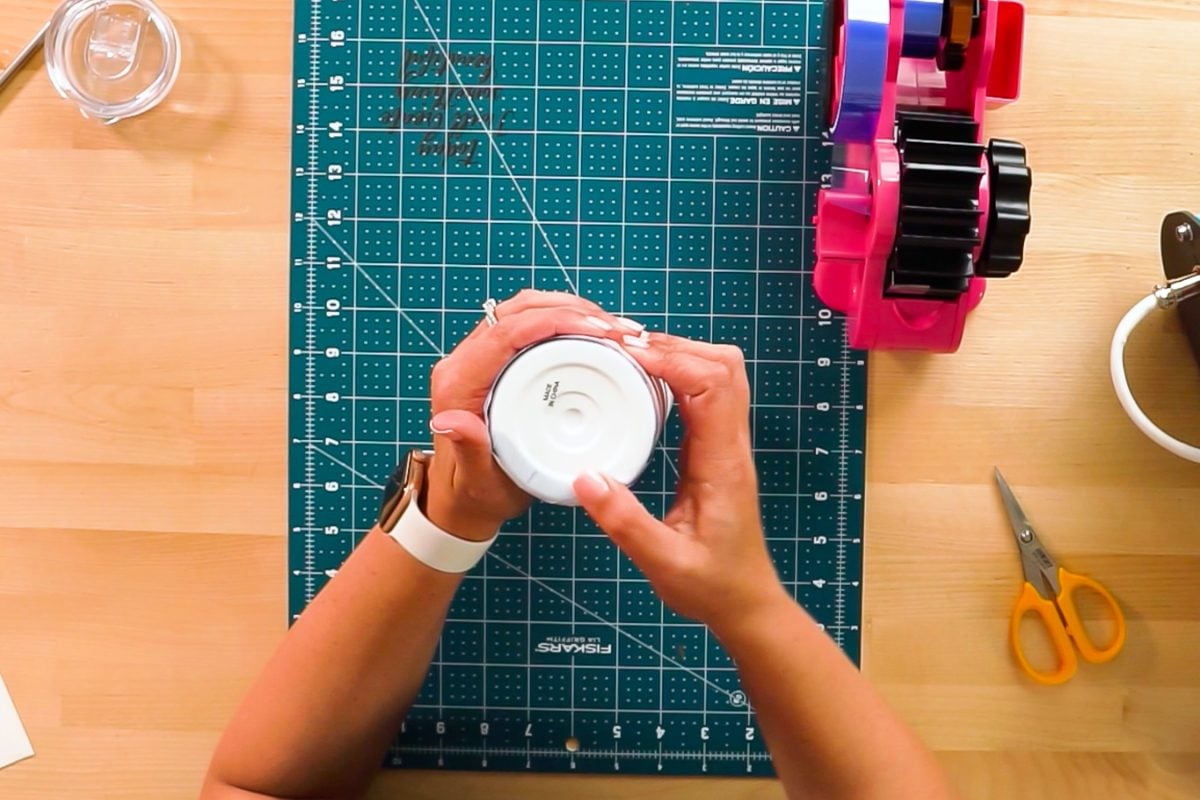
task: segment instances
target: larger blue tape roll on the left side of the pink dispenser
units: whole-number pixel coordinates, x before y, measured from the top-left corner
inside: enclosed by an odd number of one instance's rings
[[[835,144],[868,143],[875,138],[887,74],[889,5],[888,0],[841,0],[842,70],[840,76],[832,76],[833,80],[840,80],[841,92],[830,109],[829,128]],[[836,48],[834,42],[830,60]],[[830,71],[836,67],[836,62],[830,64]]]

